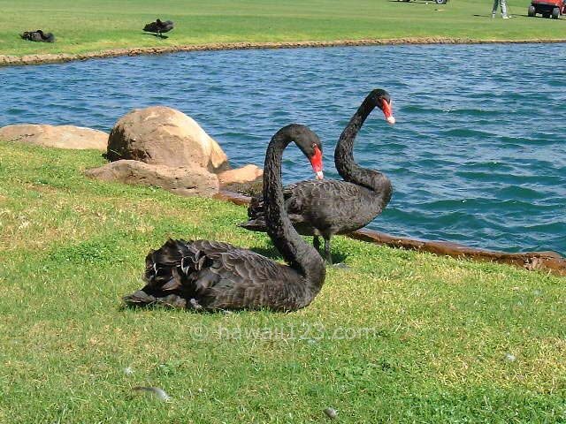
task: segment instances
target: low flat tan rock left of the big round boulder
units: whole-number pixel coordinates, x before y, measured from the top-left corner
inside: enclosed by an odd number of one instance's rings
[[[73,125],[8,125],[0,128],[0,140],[21,141],[48,148],[93,148],[105,151],[108,134]]]

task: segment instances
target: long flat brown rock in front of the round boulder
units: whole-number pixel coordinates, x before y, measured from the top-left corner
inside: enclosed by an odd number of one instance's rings
[[[88,178],[156,186],[181,196],[210,197],[218,193],[218,177],[199,166],[170,167],[120,160],[85,170]]]

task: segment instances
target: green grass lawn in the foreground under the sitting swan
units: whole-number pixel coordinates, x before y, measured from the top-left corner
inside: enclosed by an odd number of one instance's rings
[[[167,237],[279,256],[245,208],[83,177],[103,162],[0,143],[0,422],[566,420],[563,278],[337,237],[302,311],[123,309]]]

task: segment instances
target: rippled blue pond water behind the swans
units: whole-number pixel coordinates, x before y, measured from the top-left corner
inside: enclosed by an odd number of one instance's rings
[[[370,227],[509,252],[566,254],[566,46],[390,46],[180,53],[0,69],[0,125],[109,131],[134,108],[194,117],[233,165],[262,166],[282,125],[310,125],[333,148],[374,87],[356,160],[385,171],[394,197]],[[312,178],[287,149],[286,181]]]

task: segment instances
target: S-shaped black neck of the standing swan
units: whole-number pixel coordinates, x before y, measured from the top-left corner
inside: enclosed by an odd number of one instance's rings
[[[365,119],[370,115],[371,110],[374,110],[377,106],[379,100],[374,95],[368,95],[363,100],[346,128],[344,128],[344,131],[340,134],[340,140],[338,140],[336,150],[334,151],[334,163],[341,178],[376,192],[379,195],[380,201],[385,205],[391,199],[391,194],[393,193],[393,187],[389,178],[382,172],[379,172],[379,170],[368,170],[354,162],[354,141],[356,140],[356,135],[362,128]]]

